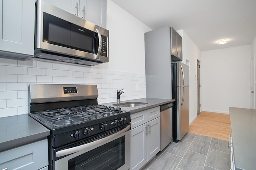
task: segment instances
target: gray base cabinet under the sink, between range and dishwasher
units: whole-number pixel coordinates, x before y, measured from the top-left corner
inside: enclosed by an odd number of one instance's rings
[[[131,115],[131,170],[139,170],[160,151],[160,108]]]

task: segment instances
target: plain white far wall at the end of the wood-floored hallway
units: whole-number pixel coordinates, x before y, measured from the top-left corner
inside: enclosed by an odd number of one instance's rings
[[[250,108],[251,45],[201,54],[202,111],[229,113],[228,107]]]

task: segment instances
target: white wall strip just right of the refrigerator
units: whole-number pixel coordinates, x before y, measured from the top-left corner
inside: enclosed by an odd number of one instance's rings
[[[183,61],[189,65],[189,123],[197,117],[197,60],[201,61],[201,51],[183,31],[177,31],[182,36]]]

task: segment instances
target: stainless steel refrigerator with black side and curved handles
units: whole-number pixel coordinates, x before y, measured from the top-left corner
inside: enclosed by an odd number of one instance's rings
[[[189,66],[181,62],[172,63],[172,98],[176,99],[173,141],[178,142],[189,130]]]

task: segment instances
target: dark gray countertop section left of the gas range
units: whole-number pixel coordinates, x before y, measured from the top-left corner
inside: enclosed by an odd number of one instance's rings
[[[49,129],[27,114],[0,118],[0,152],[50,135]]]

